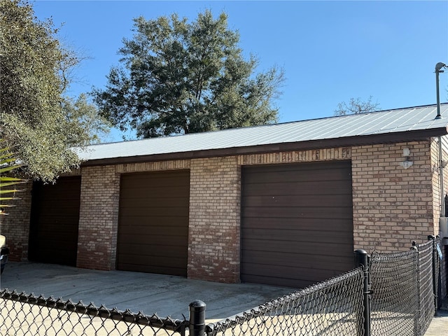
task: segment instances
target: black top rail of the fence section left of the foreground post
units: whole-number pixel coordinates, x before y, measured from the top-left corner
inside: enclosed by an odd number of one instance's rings
[[[181,332],[181,330],[188,328],[188,321],[186,321],[185,318],[183,320],[174,319],[170,316],[161,318],[157,314],[149,316],[141,311],[134,313],[129,309],[126,309],[125,311],[120,311],[116,309],[116,307],[109,309],[103,304],[100,307],[97,307],[93,302],[90,302],[90,304],[84,304],[82,301],[74,303],[71,300],[63,300],[62,297],[57,299],[52,296],[45,298],[43,295],[36,297],[33,293],[28,295],[25,292],[18,293],[16,290],[11,292],[8,288],[0,291],[0,298],[3,300],[17,301],[25,304],[69,311],[76,314],[87,314],[93,317],[108,318],[115,321],[123,321],[138,325],[151,325],[154,328],[163,328],[175,332]]]

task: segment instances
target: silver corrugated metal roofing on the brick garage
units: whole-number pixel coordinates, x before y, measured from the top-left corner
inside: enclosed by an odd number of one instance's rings
[[[448,103],[441,104],[440,114],[442,118],[435,119],[437,115],[435,105],[419,106],[175,137],[98,144],[88,146],[78,154],[82,160],[100,160],[446,129]]]

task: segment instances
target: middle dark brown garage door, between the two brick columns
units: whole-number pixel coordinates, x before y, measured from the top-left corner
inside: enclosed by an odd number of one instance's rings
[[[121,176],[117,268],[187,275],[190,172]]]

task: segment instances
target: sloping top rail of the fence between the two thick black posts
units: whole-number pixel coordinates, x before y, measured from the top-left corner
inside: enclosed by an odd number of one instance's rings
[[[265,304],[258,305],[258,307],[254,307],[246,311],[241,311],[241,313],[239,314],[229,316],[228,318],[224,318],[221,321],[216,321],[215,323],[209,323],[206,326],[207,335],[213,335],[216,332],[225,331],[228,328],[234,327],[235,325],[241,325],[252,320],[253,318],[258,318],[259,316],[263,316],[269,312],[275,311],[275,309],[278,309],[279,307],[284,307],[288,306],[291,303],[300,302],[300,300],[306,297],[312,296],[318,292],[321,292],[322,290],[335,287],[339,283],[343,283],[344,281],[348,281],[349,279],[353,279],[356,277],[362,279],[362,276],[363,267],[358,267],[326,281],[316,283],[300,290],[296,290],[281,297],[277,297],[276,299],[265,302]]]

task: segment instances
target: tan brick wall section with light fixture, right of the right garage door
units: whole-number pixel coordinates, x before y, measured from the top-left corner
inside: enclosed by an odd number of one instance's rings
[[[404,169],[403,148],[412,167]],[[407,251],[434,231],[430,141],[352,148],[354,248]]]

